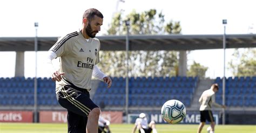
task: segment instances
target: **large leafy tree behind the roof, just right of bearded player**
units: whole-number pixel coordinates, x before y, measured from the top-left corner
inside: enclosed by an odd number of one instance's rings
[[[150,9],[141,13],[133,10],[124,16],[117,13],[107,30],[108,35],[125,35],[124,21],[130,20],[130,34],[179,34],[180,23],[167,22],[162,12]],[[99,65],[107,75],[125,76],[125,51],[104,51],[100,53],[102,60]],[[129,51],[129,76],[174,76],[178,64],[177,51]]]

